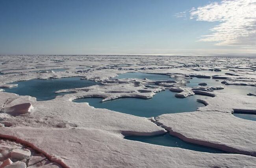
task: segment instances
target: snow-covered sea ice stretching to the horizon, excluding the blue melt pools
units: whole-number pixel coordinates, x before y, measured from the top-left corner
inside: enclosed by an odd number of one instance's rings
[[[249,96],[256,94],[256,59],[5,55],[0,57],[0,63],[0,85],[3,89],[19,88],[19,85],[9,84],[15,81],[67,77],[80,77],[102,84],[59,90],[57,92],[68,94],[47,101],[37,101],[31,96],[19,96],[2,90],[0,138],[5,140],[0,144],[1,164],[29,168],[256,165],[256,123],[232,114],[234,111],[256,112],[256,97]],[[77,69],[80,66],[91,68]],[[126,72],[162,74],[172,80],[114,78]],[[192,88],[186,86],[187,81],[195,77],[224,81],[219,86],[208,83]],[[222,85],[247,85],[251,90],[249,95],[239,95],[226,91]],[[179,92],[176,96],[182,98],[194,94],[207,95],[198,100],[206,106],[193,112],[144,118],[97,109],[88,103],[72,102],[84,97],[104,98],[103,102],[124,97],[149,99],[162,90]],[[184,141],[229,153],[204,153],[124,139],[128,135],[160,135],[167,131]]]

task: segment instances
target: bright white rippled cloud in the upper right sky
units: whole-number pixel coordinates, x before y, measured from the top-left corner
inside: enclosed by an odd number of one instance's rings
[[[193,8],[190,18],[220,22],[199,41],[217,42],[219,46],[256,46],[256,0],[222,0]]]

